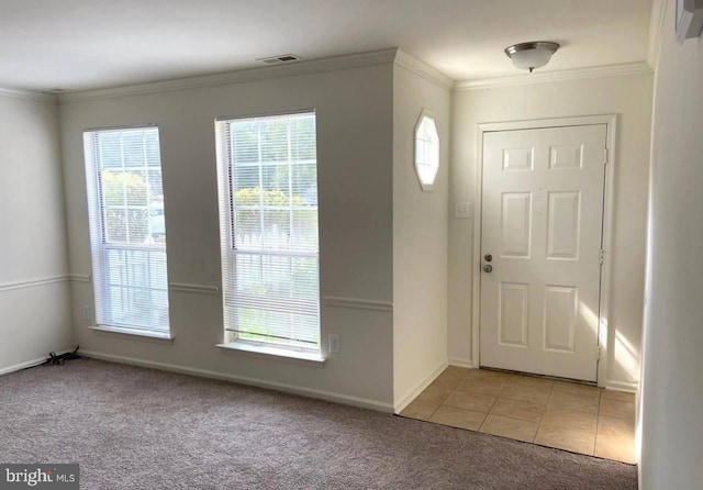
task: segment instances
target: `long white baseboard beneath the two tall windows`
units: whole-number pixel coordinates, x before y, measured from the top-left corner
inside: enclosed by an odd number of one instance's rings
[[[305,388],[297,385],[289,385],[275,381],[266,381],[258,378],[249,378],[247,376],[235,376],[224,372],[211,371],[208,369],[199,369],[192,367],[177,366],[167,363],[156,363],[153,360],[137,359],[134,357],[115,356],[112,354],[102,354],[92,350],[80,349],[78,352],[81,356],[91,357],[93,359],[107,360],[109,363],[127,364],[131,366],[140,366],[152,369],[159,369],[163,371],[178,372],[180,375],[197,376],[200,378],[219,379],[222,381],[233,381],[241,385],[247,385],[258,388],[265,388],[269,390],[282,391],[291,394],[299,394],[302,397],[314,398],[317,400],[332,401],[335,403],[342,403],[345,405],[359,407],[361,409],[375,410],[377,412],[393,413],[393,405],[390,403],[383,403],[377,400],[369,400],[360,397],[350,397],[348,394],[335,393],[332,391],[316,390],[314,388]]]

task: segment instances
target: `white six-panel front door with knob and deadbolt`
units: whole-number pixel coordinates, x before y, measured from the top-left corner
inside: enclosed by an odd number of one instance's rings
[[[606,127],[484,133],[481,366],[596,380]]]

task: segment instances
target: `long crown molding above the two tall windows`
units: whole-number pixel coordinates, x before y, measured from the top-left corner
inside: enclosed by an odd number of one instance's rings
[[[131,85],[107,89],[83,90],[58,96],[60,103],[78,102],[93,99],[110,99],[114,97],[142,96],[147,93],[186,90],[203,87],[215,87],[247,81],[267,80],[271,78],[295,77],[301,75],[337,71],[365,66],[391,64],[395,59],[397,47],[353,55],[333,56],[330,58],[311,59],[290,65],[266,66],[248,68],[224,74],[203,75],[198,77],[179,78],[174,80],[155,81],[149,83]]]

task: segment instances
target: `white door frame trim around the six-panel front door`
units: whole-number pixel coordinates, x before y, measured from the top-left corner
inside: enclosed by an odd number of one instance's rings
[[[605,179],[603,189],[603,232],[601,247],[603,265],[601,267],[601,290],[599,294],[599,330],[598,330],[598,370],[599,387],[609,387],[607,365],[611,358],[611,346],[614,345],[615,328],[609,328],[610,291],[613,249],[613,203],[615,198],[615,160],[616,160],[616,114],[583,115],[576,118],[551,118],[527,121],[509,121],[495,123],[479,123],[477,133],[476,180],[473,190],[473,257],[471,259],[471,367],[479,368],[480,364],[480,331],[481,331],[481,220],[483,199],[483,135],[499,131],[539,130],[546,127],[606,125],[605,148],[607,164],[605,164]],[[596,355],[594,353],[594,355]],[[615,387],[612,387],[615,388]]]

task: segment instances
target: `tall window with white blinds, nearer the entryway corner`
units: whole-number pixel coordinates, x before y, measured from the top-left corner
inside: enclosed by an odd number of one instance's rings
[[[226,341],[320,350],[314,112],[219,120]]]

